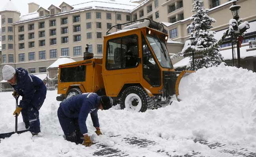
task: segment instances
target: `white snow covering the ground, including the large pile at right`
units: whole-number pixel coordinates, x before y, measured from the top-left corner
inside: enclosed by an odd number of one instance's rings
[[[41,137],[32,138],[27,132],[2,139],[0,157],[87,156],[92,148],[63,139],[56,96],[57,91],[47,91],[40,110]],[[174,100],[171,106],[145,113],[120,110],[118,106],[98,111],[100,128],[106,135],[158,141],[158,147],[169,152],[208,152],[208,147],[193,142],[194,139],[256,147],[256,73],[223,64],[199,69],[181,80],[180,98],[181,102]],[[11,92],[0,93],[0,133],[14,131],[13,110],[15,99]],[[19,130],[23,130],[21,115],[18,120]],[[87,126],[95,141],[115,145],[106,135],[95,136],[90,118]],[[130,156],[161,155],[133,150]]]

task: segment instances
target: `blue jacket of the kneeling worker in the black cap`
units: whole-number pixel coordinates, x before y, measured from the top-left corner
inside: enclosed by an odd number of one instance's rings
[[[75,95],[69,99],[63,100],[60,103],[64,114],[70,118],[78,118],[79,128],[82,134],[88,132],[86,119],[88,114],[91,114],[94,127],[100,127],[98,120],[98,105],[100,96],[96,93],[86,93]]]

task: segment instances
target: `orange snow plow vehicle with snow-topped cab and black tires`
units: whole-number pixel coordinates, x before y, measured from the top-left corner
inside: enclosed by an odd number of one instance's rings
[[[170,103],[177,72],[163,30],[149,19],[126,26],[104,37],[102,59],[60,65],[57,99],[96,92],[112,97],[122,109],[142,112]]]

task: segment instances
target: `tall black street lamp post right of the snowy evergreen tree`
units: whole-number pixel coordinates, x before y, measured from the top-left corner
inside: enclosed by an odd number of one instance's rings
[[[233,15],[233,18],[236,20],[236,21],[238,21],[239,20],[239,9],[240,9],[240,6],[239,5],[236,5],[236,1],[237,0],[233,0],[232,1],[232,3],[233,3],[233,5],[229,8],[230,9],[230,11],[232,12],[232,15]],[[235,27],[236,28],[236,30],[235,31],[237,31],[238,30],[238,27],[236,26]],[[233,55],[233,37],[234,37],[234,35],[233,35],[233,33],[232,33],[232,55]],[[240,46],[240,44],[239,44],[239,39],[238,39],[238,37],[236,37],[237,39],[237,41],[236,41],[236,47],[237,47],[237,67],[238,68],[240,68],[240,48],[239,48],[239,46]],[[234,59],[233,59],[233,66],[234,66]]]

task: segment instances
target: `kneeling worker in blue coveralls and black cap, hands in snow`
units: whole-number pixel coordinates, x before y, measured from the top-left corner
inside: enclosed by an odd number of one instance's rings
[[[90,136],[86,126],[86,119],[90,113],[95,133],[101,135],[98,120],[98,109],[108,110],[113,105],[113,99],[108,96],[98,96],[96,93],[78,94],[63,100],[58,109],[58,117],[66,140],[91,146]]]

